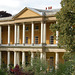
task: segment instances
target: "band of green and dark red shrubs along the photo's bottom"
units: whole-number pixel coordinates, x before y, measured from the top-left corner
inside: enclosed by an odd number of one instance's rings
[[[64,57],[66,54],[64,55]],[[75,75],[75,55],[72,54],[69,61],[65,60],[64,64],[58,64],[58,69],[47,70],[48,63],[40,58],[33,59],[33,66],[26,66],[25,69],[19,68],[18,65],[13,69],[14,73],[8,73],[9,75]],[[71,60],[74,59],[74,60]],[[11,70],[10,70],[11,71]],[[4,72],[4,71],[3,71]],[[2,73],[3,73],[2,72]],[[2,74],[1,74],[2,75]],[[4,74],[5,75],[5,74]]]

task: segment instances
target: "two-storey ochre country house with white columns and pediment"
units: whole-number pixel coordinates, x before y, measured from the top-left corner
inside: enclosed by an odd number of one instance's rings
[[[2,64],[8,68],[9,64],[25,66],[31,62],[32,65],[37,52],[41,60],[47,60],[55,68],[58,62],[64,62],[65,50],[58,48],[58,31],[54,37],[50,30],[58,11],[25,7],[14,16],[0,18],[0,68]]]

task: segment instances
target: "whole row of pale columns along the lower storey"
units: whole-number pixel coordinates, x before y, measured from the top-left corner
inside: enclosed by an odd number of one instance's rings
[[[22,52],[22,66],[25,67],[25,55],[26,53],[23,51]],[[2,60],[2,53],[0,51],[0,68],[1,68],[1,60]],[[20,65],[20,55],[19,52],[14,51],[14,67],[16,66],[16,64]],[[34,52],[31,52],[31,66],[33,66],[33,59],[34,59]],[[41,60],[46,60],[46,52],[42,53],[40,52],[40,59]],[[55,68],[58,68],[58,62],[59,62],[59,53],[55,52]],[[10,51],[7,51],[7,68],[9,69],[9,64],[10,64]]]

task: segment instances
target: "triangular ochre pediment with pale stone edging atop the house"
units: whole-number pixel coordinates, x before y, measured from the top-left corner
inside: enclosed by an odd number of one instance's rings
[[[30,18],[30,17],[37,17],[37,16],[40,16],[40,14],[28,8],[25,8],[21,12],[19,12],[14,18],[28,18],[28,17]]]

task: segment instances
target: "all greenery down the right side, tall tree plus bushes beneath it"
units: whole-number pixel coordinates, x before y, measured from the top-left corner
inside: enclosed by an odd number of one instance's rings
[[[50,26],[53,32],[59,31],[58,45],[63,47],[67,52],[64,64],[59,64],[57,75],[74,75],[75,74],[75,1],[62,0],[61,9],[56,13],[57,24]],[[73,54],[74,53],[74,54]],[[61,65],[61,66],[60,66]]]

